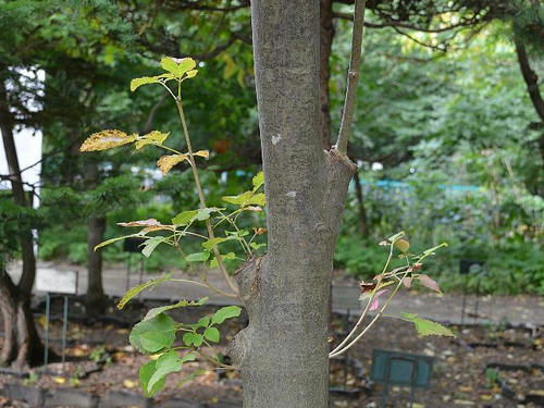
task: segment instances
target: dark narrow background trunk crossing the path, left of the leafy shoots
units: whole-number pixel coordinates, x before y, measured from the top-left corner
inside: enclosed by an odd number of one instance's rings
[[[96,316],[106,312],[106,297],[102,287],[102,251],[95,251],[95,247],[103,240],[106,218],[92,217],[87,223],[88,250],[88,287],[87,314]]]

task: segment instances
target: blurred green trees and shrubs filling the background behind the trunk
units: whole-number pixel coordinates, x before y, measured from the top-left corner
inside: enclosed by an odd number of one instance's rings
[[[330,3],[334,37],[325,83],[334,135],[351,22],[349,4]],[[405,231],[415,250],[448,243],[428,272],[445,290],[466,284],[474,290],[480,281],[486,293],[544,295],[544,126],[531,99],[535,87],[528,91],[520,71],[524,62],[544,71],[543,7],[372,4],[349,148],[360,169],[335,267],[372,277],[385,259],[378,243]],[[3,261],[20,257],[21,235],[36,228],[40,259],[86,264],[94,220],[104,221],[108,239],[126,233],[118,222],[168,223],[197,207],[187,165],[163,178],[152,148],[77,151],[103,128],[172,132],[173,144],[183,146],[175,107],[162,88],[128,89],[132,78],[159,73],[162,55],[200,61],[184,100],[196,148],[211,152],[202,170],[209,206],[247,189],[259,171],[248,2],[0,1],[0,29],[3,125],[15,139],[22,127],[44,135],[39,191],[30,186],[39,209],[14,203],[2,175]],[[45,79],[33,79],[40,70]],[[24,147],[17,153],[25,154]],[[121,244],[103,251],[106,268],[126,257]],[[485,261],[485,279],[460,275],[461,259]],[[185,267],[168,248],[146,260],[148,271]]]

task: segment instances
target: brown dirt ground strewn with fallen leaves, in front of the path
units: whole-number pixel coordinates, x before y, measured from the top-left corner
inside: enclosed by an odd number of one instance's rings
[[[53,310],[58,312],[60,305],[60,300],[53,301]],[[37,310],[39,309],[38,305]],[[172,316],[178,321],[191,322],[201,314],[213,311],[213,307],[200,309],[176,310]],[[128,345],[127,337],[129,321],[135,321],[145,312],[143,305],[132,304],[126,313],[113,314],[110,322],[85,322],[83,318],[77,319],[76,305],[72,306],[72,310],[74,321],[69,326],[69,362],[65,366],[65,374],[60,372],[61,364],[53,362],[48,367],[50,373],[39,378],[35,375],[39,369],[27,372],[26,374],[33,373],[29,378],[0,374],[0,387],[4,383],[18,383],[49,390],[76,387],[99,395],[103,395],[107,390],[140,395],[138,367],[145,363],[148,357],[136,353]],[[121,317],[124,321],[118,319]],[[37,322],[42,330],[44,317],[37,317]],[[232,338],[244,324],[244,317],[232,321],[225,327],[223,338]],[[341,333],[353,324],[354,322],[347,322],[345,317],[336,316],[333,326],[336,333]],[[61,326],[59,320],[53,321],[52,347],[58,354]],[[346,369],[344,359],[333,361],[331,386],[336,392],[332,393],[331,406],[380,406],[381,384],[372,384],[368,379],[374,348],[403,350],[434,358],[431,387],[416,392],[415,408],[544,406],[542,331],[491,325],[453,329],[458,333],[457,338],[421,338],[409,323],[393,319],[380,321],[369,335],[348,353],[349,359],[359,362],[358,369]],[[103,362],[103,366],[97,366],[97,361]],[[211,404],[242,399],[242,382],[236,371],[218,371],[207,362],[188,363],[184,367],[186,369],[182,374],[169,378],[165,388],[156,396],[157,404],[174,396]],[[184,376],[197,369],[205,369],[205,374],[178,384]],[[406,407],[409,396],[409,390],[393,386],[388,391],[387,407]],[[0,397],[0,407],[25,405]]]

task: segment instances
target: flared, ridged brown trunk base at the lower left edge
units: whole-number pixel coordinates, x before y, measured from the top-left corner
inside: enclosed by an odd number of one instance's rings
[[[17,289],[4,270],[0,271],[0,310],[4,332],[1,363],[16,368],[38,363],[44,345],[36,331],[28,297]]]

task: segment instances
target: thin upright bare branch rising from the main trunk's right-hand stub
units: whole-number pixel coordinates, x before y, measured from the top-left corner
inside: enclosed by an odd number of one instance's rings
[[[362,33],[364,30],[364,4],[366,0],[356,0],[354,12],[354,35],[351,39],[351,55],[347,72],[346,99],[336,141],[336,150],[346,153],[349,139],[349,128],[354,119],[357,82],[359,81],[359,67],[361,64]]]

